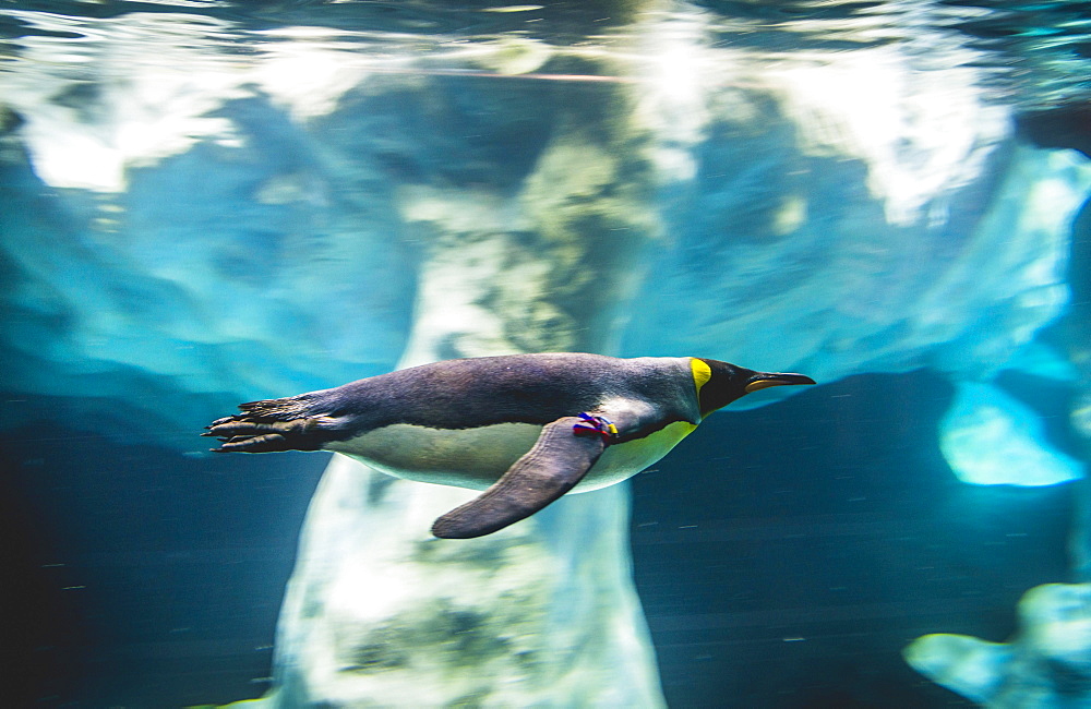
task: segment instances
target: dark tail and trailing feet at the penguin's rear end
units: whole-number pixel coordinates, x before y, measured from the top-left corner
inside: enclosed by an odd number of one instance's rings
[[[334,436],[334,420],[312,413],[308,395],[240,404],[242,413],[216,419],[201,435],[219,438],[213,453],[319,450]]]

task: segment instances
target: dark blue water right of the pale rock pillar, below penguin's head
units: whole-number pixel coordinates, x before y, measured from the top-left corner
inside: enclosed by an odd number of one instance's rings
[[[1028,584],[1069,579],[1072,497],[952,480],[930,442],[948,397],[924,373],[853,377],[722,413],[638,479],[637,587],[671,706],[972,706],[899,649],[1010,636]]]

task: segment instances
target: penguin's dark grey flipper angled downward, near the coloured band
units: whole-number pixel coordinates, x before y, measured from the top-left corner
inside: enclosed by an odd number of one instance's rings
[[[538,442],[500,480],[470,502],[435,520],[442,539],[471,539],[526,519],[576,486],[607,446],[603,435],[578,435],[579,417],[547,424]]]

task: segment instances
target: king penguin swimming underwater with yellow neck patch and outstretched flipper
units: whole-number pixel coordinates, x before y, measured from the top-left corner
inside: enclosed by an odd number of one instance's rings
[[[483,490],[432,526],[469,539],[635,476],[751,392],[814,383],[699,357],[480,357],[241,404],[203,435],[219,438],[216,453],[334,450],[397,478]]]

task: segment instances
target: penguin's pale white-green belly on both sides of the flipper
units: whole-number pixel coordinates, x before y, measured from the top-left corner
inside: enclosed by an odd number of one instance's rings
[[[667,455],[695,428],[678,421],[647,437],[609,446],[573,492],[598,490],[632,478]],[[397,423],[326,448],[396,478],[484,490],[533,447],[541,430],[531,423],[457,430]]]

